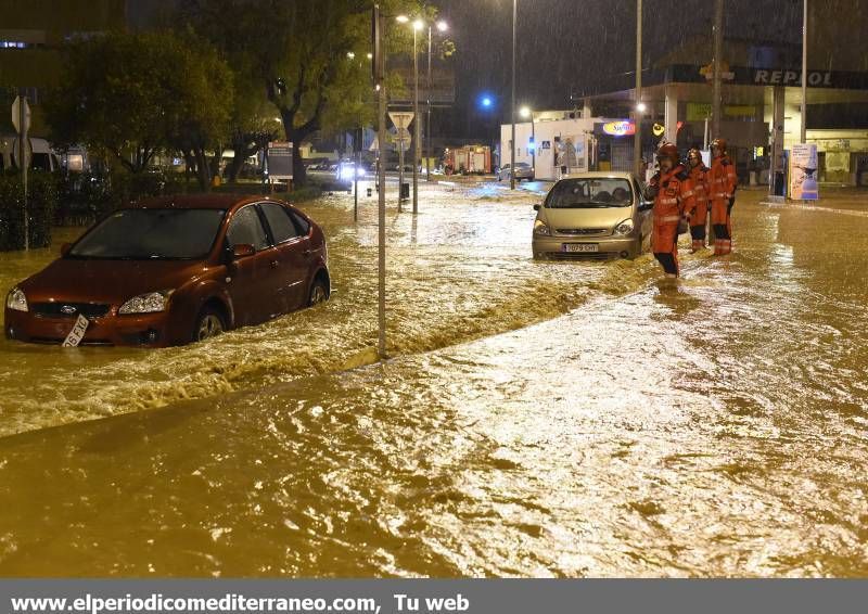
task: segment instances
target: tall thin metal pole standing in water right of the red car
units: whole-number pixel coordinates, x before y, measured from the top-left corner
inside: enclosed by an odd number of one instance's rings
[[[380,4],[373,5],[373,73],[378,101],[378,139],[380,146],[376,180],[380,183],[378,210],[378,325],[379,338],[376,354],[381,360],[386,357],[386,167],[383,152],[386,144],[386,84],[385,50],[382,41],[383,18]],[[398,188],[400,190],[400,188]]]

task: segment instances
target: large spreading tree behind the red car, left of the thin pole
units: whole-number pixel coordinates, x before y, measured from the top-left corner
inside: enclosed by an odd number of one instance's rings
[[[182,21],[227,53],[277,108],[294,144],[295,182],[305,181],[302,142],[323,128],[371,124],[371,0],[191,0]],[[385,14],[417,14],[412,0],[384,0]],[[431,11],[431,9],[426,9]],[[409,28],[390,28],[392,52]]]

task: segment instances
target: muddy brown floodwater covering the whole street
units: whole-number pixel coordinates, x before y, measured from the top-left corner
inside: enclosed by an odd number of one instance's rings
[[[33,431],[0,439],[0,575],[868,575],[868,216],[745,192],[737,252],[666,283],[533,263],[535,200],[391,212],[382,364],[373,212],[344,196],[309,207],[322,307],[149,354],[2,346]],[[41,428],[103,412],[130,413]]]

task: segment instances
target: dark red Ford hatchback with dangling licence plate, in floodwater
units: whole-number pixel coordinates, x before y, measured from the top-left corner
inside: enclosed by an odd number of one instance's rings
[[[329,298],[322,230],[292,205],[164,196],[116,210],[5,303],[12,340],[162,347]]]

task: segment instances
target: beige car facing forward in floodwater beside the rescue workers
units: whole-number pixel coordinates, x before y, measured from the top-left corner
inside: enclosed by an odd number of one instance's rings
[[[537,210],[535,258],[635,258],[651,234],[652,203],[628,172],[583,172],[552,186]]]

